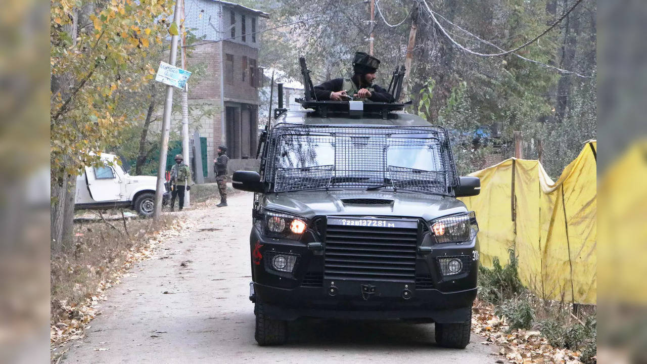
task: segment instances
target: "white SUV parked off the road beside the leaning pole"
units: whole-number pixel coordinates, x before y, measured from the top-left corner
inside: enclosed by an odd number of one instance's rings
[[[76,177],[75,209],[114,209],[127,207],[142,216],[155,210],[157,177],[130,176],[123,166],[115,163],[116,155],[101,154],[102,166],[87,166]],[[162,205],[170,193],[164,187]]]

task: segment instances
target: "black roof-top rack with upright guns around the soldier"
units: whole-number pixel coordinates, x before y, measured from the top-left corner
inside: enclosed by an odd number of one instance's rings
[[[404,109],[405,106],[411,102],[362,102],[362,101],[334,101],[316,100],[314,93],[313,80],[310,78],[310,70],[305,65],[305,58],[300,57],[299,63],[301,65],[301,73],[303,75],[303,88],[305,91],[304,98],[295,98],[294,101],[298,102],[306,109],[315,109],[322,117],[328,117],[329,113],[347,113],[351,117],[362,117],[364,113],[378,114],[382,119],[388,119],[391,111],[398,111]],[[400,98],[400,91],[402,90],[402,78],[404,77],[404,66],[395,67],[391,82],[389,83],[388,92],[393,95],[395,100]]]

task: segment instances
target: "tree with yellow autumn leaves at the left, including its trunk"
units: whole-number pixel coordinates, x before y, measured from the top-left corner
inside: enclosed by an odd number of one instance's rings
[[[173,2],[52,0],[50,9],[54,247],[71,235],[76,175],[129,123],[121,98],[154,77],[148,52],[166,38]]]

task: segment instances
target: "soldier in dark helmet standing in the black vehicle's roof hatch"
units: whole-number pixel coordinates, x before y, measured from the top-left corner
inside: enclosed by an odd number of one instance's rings
[[[373,84],[380,60],[364,52],[356,52],[353,60],[353,77],[335,78],[314,86],[316,100],[353,100],[373,102],[393,102],[393,95],[382,87]]]

